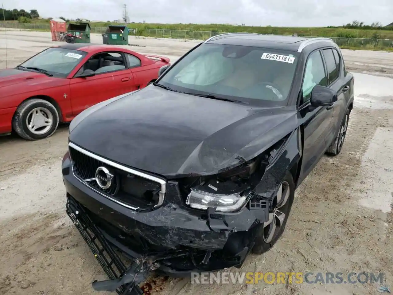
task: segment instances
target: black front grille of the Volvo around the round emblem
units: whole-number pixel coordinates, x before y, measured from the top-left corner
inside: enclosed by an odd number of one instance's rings
[[[151,210],[158,204],[161,184],[115,168],[70,147],[73,173],[94,190],[125,205]],[[109,188],[101,188],[95,181],[98,167],[107,168],[114,175]]]

